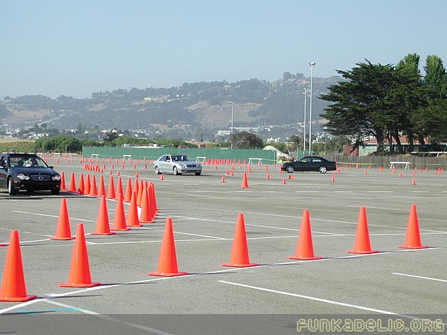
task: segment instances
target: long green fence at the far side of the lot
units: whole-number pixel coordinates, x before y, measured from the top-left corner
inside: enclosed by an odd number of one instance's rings
[[[146,158],[155,160],[164,154],[186,154],[193,160],[232,159],[246,161],[249,158],[262,158],[261,163],[277,163],[276,151],[261,149],[177,149],[177,148],[129,148],[129,147],[82,147],[82,157],[98,158]],[[258,161],[255,161],[258,163]]]

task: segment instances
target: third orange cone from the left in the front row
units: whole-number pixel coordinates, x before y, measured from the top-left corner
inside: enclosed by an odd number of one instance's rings
[[[159,263],[155,272],[149,272],[149,276],[184,276],[186,272],[179,272],[177,267],[177,255],[175,254],[175,243],[173,234],[173,221],[166,218],[163,240],[161,241]]]

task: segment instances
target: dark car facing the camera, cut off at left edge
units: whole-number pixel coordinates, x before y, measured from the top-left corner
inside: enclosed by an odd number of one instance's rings
[[[58,195],[61,176],[34,154],[0,155],[0,188],[8,188],[10,195],[20,190],[27,192],[50,190]]]

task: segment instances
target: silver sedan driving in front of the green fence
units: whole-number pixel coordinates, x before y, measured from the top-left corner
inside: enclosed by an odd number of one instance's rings
[[[200,176],[202,165],[196,163],[186,155],[163,155],[153,165],[156,174],[172,173],[174,175],[182,173],[195,173]]]

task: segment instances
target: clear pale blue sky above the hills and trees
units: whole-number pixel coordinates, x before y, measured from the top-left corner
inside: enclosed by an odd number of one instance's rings
[[[5,0],[0,99],[447,61],[445,0]]]

